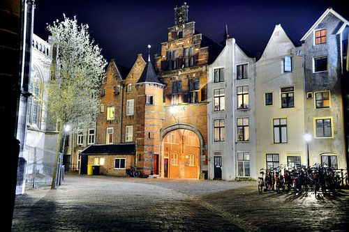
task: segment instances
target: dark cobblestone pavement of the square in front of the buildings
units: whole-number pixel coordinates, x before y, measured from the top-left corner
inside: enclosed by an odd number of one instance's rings
[[[13,231],[346,231],[349,191],[258,194],[253,181],[66,175],[17,196]]]

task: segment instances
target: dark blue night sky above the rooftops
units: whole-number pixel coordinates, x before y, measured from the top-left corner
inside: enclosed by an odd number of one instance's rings
[[[328,7],[349,20],[344,0],[290,1],[207,1],[189,0],[188,20],[195,29],[216,42],[222,42],[225,24],[230,37],[247,52],[256,55],[267,45],[275,24],[281,24],[288,36],[299,41]],[[147,58],[160,52],[167,41],[168,27],[174,24],[173,7],[184,1],[136,0],[36,0],[34,33],[47,40],[46,24],[76,15],[78,22],[89,24],[89,32],[102,48],[107,61],[131,68],[137,54]]]

